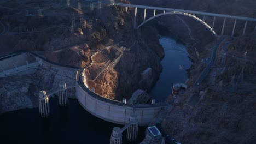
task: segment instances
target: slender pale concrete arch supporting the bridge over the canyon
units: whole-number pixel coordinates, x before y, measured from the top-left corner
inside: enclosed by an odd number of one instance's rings
[[[188,14],[188,13],[184,13],[184,12],[180,12],[180,11],[170,11],[170,12],[166,12],[166,13],[161,13],[161,14],[158,14],[158,15],[155,15],[155,16],[152,16],[150,17],[149,19],[143,21],[139,26],[135,27],[136,29],[138,29],[139,27],[143,26],[145,23],[147,23],[148,21],[150,20],[153,20],[155,19],[156,17],[159,17],[159,16],[164,16],[164,15],[185,15],[185,16],[189,16],[199,22],[201,22],[203,25],[205,25],[211,32],[212,34],[217,37],[218,35],[216,34],[216,32],[214,32],[213,28],[210,27],[205,21],[201,20],[199,17],[196,17],[194,15],[191,15],[191,14]]]

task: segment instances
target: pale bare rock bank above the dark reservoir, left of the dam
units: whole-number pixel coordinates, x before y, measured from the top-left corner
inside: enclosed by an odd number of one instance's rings
[[[33,73],[31,73],[33,71]],[[38,107],[39,91],[55,91],[59,83],[65,81],[67,86],[74,86],[76,70],[56,69],[42,65],[21,76],[9,76],[0,79],[5,92],[0,94],[0,113],[24,108]],[[75,97],[75,89],[68,89],[68,97]]]

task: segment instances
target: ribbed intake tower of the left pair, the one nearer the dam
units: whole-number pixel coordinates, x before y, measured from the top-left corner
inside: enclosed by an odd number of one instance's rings
[[[67,86],[66,83],[61,81],[59,83],[59,105],[60,106],[66,106],[68,103],[68,97],[67,97]]]

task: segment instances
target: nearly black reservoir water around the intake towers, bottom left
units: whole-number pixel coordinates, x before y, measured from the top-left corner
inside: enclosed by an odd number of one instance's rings
[[[77,100],[69,99],[68,107],[58,106],[50,98],[49,118],[41,118],[39,109],[21,109],[0,115],[0,143],[110,143],[114,127],[123,125],[103,121],[86,112]],[[139,128],[139,141],[146,127]],[[123,143],[126,133],[123,133]]]

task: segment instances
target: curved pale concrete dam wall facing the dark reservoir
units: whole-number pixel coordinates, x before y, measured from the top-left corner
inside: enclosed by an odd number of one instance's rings
[[[154,117],[162,108],[173,103],[173,101],[170,101],[157,104],[132,105],[110,100],[91,92],[82,81],[83,71],[79,73],[79,86],[75,88],[75,95],[79,103],[92,115],[112,123],[129,123],[130,114],[135,112],[138,117],[138,125],[148,125],[152,123]]]

